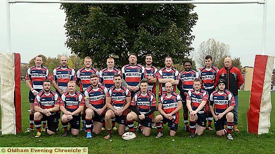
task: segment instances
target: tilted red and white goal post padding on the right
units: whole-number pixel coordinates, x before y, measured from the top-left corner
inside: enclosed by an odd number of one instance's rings
[[[249,109],[247,111],[248,133],[268,133],[271,112],[271,76],[274,57],[256,55],[251,85]]]

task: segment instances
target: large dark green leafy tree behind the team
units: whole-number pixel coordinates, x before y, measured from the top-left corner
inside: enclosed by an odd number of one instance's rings
[[[193,4],[62,4],[66,13],[66,46],[93,65],[105,67],[112,56],[116,67],[128,63],[128,54],[144,63],[152,54],[154,64],[163,65],[166,56],[182,64],[193,48],[191,28],[197,14]]]

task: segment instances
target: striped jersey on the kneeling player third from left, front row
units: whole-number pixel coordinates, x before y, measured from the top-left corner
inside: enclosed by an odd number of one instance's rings
[[[93,89],[92,86],[89,86],[84,91],[84,96],[89,97],[90,105],[95,109],[101,109],[105,105],[105,95],[107,91],[107,88],[102,85],[98,85],[97,89]]]

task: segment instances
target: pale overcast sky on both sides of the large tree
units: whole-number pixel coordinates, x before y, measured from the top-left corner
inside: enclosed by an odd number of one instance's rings
[[[60,4],[10,4],[11,52],[28,62],[37,54],[55,57],[70,53],[66,40],[65,13]],[[266,55],[275,56],[275,0],[268,0]],[[0,52],[7,52],[5,0],[0,0]],[[196,4],[198,20],[193,30],[195,50],[208,38],[230,46],[232,57],[240,57],[242,66],[253,66],[261,54],[262,4]]]

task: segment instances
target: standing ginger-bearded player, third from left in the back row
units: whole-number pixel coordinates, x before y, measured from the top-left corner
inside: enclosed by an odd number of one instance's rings
[[[80,68],[77,72],[76,72],[76,84],[77,86],[80,88],[80,93],[84,94],[84,91],[88,88],[88,86],[90,86],[90,75],[91,74],[95,74],[97,76],[99,76],[98,71],[91,67],[92,64],[92,59],[89,56],[86,56],[84,58],[84,67]],[[81,112],[81,120],[82,120],[82,124],[83,127],[81,129],[81,131],[85,130],[85,110],[86,107],[84,106],[84,110]]]

